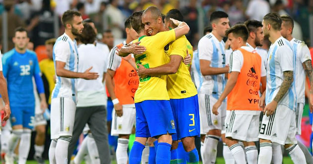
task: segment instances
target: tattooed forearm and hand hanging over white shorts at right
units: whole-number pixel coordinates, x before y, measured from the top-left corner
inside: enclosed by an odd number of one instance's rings
[[[292,82],[294,81],[294,72],[293,71],[285,71],[284,74],[284,81],[282,82],[276,96],[274,97],[273,101],[269,104],[266,104],[264,108],[264,113],[267,116],[270,116],[276,110],[278,102],[283,98],[283,96],[287,93],[288,89],[290,88]]]

